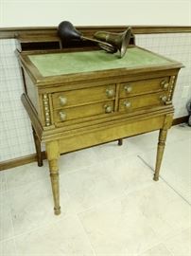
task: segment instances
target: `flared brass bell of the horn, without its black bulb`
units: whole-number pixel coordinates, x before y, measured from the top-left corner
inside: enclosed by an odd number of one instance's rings
[[[125,55],[127,47],[130,44],[130,36],[131,29],[130,27],[128,27],[128,29],[122,33],[97,31],[94,35],[94,38],[96,38],[96,40],[98,41],[109,43],[113,47],[117,48],[117,50],[119,50],[120,57],[122,58]]]

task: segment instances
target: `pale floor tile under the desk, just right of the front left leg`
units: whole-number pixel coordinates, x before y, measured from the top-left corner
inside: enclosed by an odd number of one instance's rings
[[[76,212],[89,209],[96,204],[123,194],[110,174],[101,164],[61,176],[61,184],[68,192]]]

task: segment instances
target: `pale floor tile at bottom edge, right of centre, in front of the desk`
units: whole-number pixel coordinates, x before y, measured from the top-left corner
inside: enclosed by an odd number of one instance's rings
[[[128,197],[84,211],[79,218],[97,256],[140,254],[158,241],[147,218]]]

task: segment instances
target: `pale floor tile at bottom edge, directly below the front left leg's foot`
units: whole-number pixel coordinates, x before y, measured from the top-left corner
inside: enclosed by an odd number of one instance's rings
[[[76,217],[61,221],[16,238],[19,256],[95,255]]]

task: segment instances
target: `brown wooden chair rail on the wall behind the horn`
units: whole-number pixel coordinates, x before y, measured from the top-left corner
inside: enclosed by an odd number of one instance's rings
[[[94,34],[97,30],[121,32],[130,25],[124,26],[83,26],[77,27],[84,35]],[[134,34],[190,33],[190,26],[130,26]],[[36,34],[56,36],[57,27],[1,27],[0,39],[17,38],[18,35]]]

